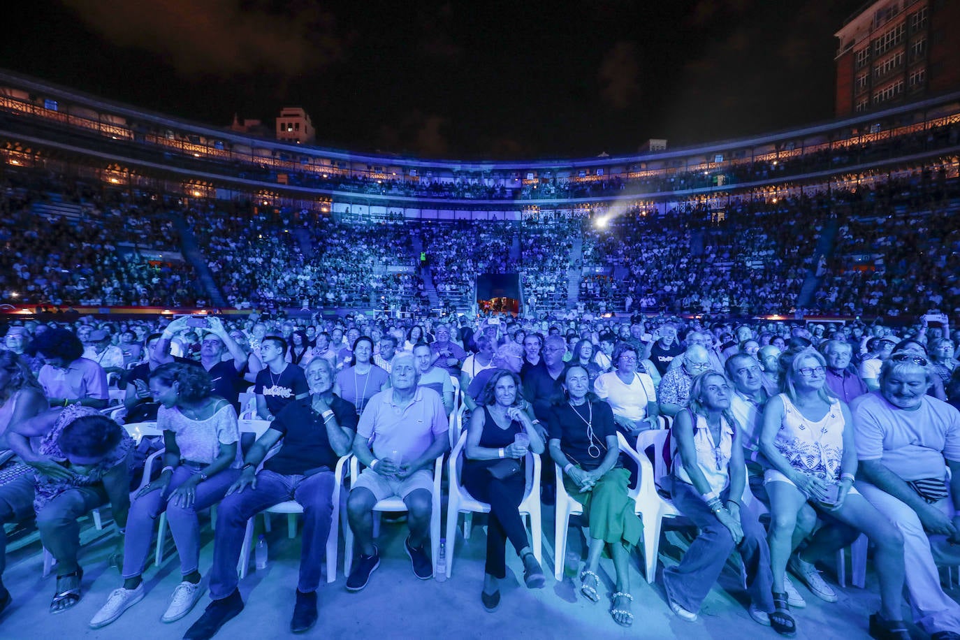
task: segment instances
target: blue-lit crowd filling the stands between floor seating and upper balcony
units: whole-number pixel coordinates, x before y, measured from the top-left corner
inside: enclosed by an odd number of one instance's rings
[[[44,209],[51,194],[83,215]],[[220,294],[240,309],[465,311],[477,275],[517,273],[533,313],[913,316],[960,308],[958,208],[958,181],[930,169],[830,191],[519,223],[357,223],[11,175],[0,198],[0,292],[55,306],[204,306]]]

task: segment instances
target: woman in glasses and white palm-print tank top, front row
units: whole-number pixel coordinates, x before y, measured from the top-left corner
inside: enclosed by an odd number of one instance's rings
[[[784,354],[786,356],[786,354]],[[826,387],[827,362],[812,347],[798,351],[784,364],[783,392],[770,399],[763,412],[760,449],[773,468],[764,474],[770,497],[770,565],[777,612],[789,609],[778,586],[789,560],[791,571],[823,600],[836,602],[832,588],[813,563],[832,557],[849,541],[829,524],[821,527],[804,549],[791,557],[801,540],[794,540],[797,513],[804,504],[832,519],[866,533],[876,546],[880,581],[880,613],[871,616],[875,638],[909,638],[903,625],[903,539],[853,488],[856,449],[850,411]]]

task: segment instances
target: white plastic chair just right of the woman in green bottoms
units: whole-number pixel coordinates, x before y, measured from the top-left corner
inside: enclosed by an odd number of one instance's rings
[[[620,450],[636,462],[639,479],[634,495],[634,511],[643,521],[643,561],[647,582],[653,583],[657,577],[657,558],[660,553],[660,531],[664,518],[683,517],[673,503],[657,492],[657,481],[666,475],[663,463],[663,446],[669,431],[644,431],[636,439],[636,450],[630,446],[623,434],[617,432]],[[646,450],[653,447],[654,462],[647,458]]]

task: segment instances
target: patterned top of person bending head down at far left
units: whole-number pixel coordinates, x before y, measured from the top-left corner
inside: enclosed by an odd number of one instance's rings
[[[84,407],[83,405],[79,404],[70,405],[64,409],[63,413],[57,417],[57,421],[54,423],[54,427],[50,430],[50,433],[40,439],[40,443],[37,447],[37,453],[41,456],[52,458],[53,460],[59,461],[66,459],[66,455],[64,455],[63,451],[60,449],[60,434],[63,433],[63,429],[68,424],[87,415],[101,414],[92,407]],[[117,445],[113,447],[113,449],[104,457],[102,461],[94,465],[84,475],[74,472],[69,478],[60,479],[51,478],[50,476],[36,473],[34,510],[39,511],[43,509],[51,500],[59,496],[60,493],[63,493],[69,489],[77,486],[100,485],[103,482],[104,475],[110,469],[119,464],[126,466],[128,464],[128,454],[133,448],[133,439],[130,437],[130,434],[122,429],[121,434],[120,441],[117,443]]]

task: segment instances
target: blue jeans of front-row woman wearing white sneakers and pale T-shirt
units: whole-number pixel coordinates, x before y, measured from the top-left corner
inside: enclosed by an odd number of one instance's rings
[[[127,518],[127,535],[124,538],[124,579],[136,578],[143,573],[143,567],[150,555],[150,542],[156,530],[156,518],[164,510],[167,512],[170,533],[174,536],[174,544],[177,545],[177,553],[180,555],[180,572],[185,576],[197,571],[200,564],[200,523],[197,521],[197,511],[220,502],[229,486],[240,476],[239,469],[224,469],[210,476],[197,485],[191,507],[177,507],[167,502],[174,489],[191,476],[198,475],[200,471],[200,467],[180,464],[174,469],[174,475],[165,491],[151,491],[133,501]],[[157,540],[156,544],[162,544],[162,541]]]

